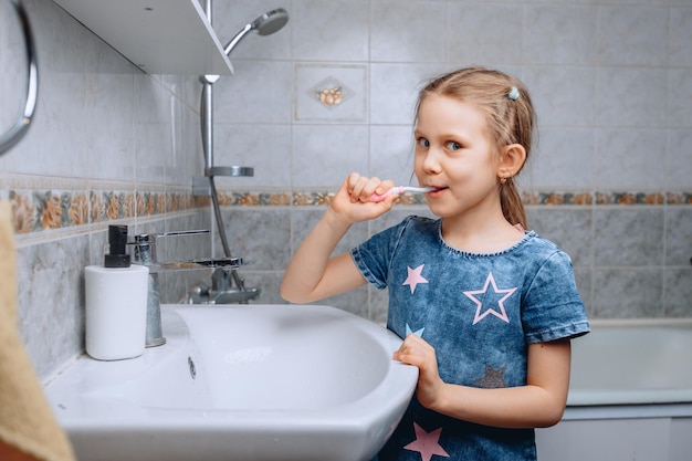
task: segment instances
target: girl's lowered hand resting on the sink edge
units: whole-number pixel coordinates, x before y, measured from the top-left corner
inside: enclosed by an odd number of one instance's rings
[[[443,392],[447,388],[438,371],[438,358],[434,348],[416,334],[409,334],[403,344],[394,353],[394,359],[418,367],[418,401],[429,409],[442,408]]]

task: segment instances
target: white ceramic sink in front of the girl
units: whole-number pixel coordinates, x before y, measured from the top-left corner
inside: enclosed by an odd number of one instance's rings
[[[367,461],[413,394],[401,339],[319,305],[164,305],[164,346],[45,387],[85,461]]]

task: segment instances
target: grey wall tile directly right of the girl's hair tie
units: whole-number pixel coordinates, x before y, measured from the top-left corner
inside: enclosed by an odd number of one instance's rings
[[[596,72],[594,67],[526,67],[523,81],[530,88],[541,129],[594,125]]]

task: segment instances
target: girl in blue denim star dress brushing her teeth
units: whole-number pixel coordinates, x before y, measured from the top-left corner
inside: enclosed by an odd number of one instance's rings
[[[524,85],[463,69],[419,94],[415,172],[439,219],[408,217],[359,247],[332,251],[353,223],[389,211],[394,182],[352,174],[295,252],[281,293],[317,301],[366,283],[389,289],[394,358],[419,368],[416,397],[379,461],[535,460],[534,430],[557,423],[570,338],[589,325],[572,262],[525,231],[514,177],[531,150]]]

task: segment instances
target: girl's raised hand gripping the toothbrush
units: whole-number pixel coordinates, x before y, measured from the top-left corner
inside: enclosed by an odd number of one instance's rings
[[[370,201],[370,197],[373,193],[385,193],[394,186],[392,180],[382,181],[352,172],[336,192],[331,209],[348,223],[375,219],[391,210],[399,196],[392,193],[379,202]]]

